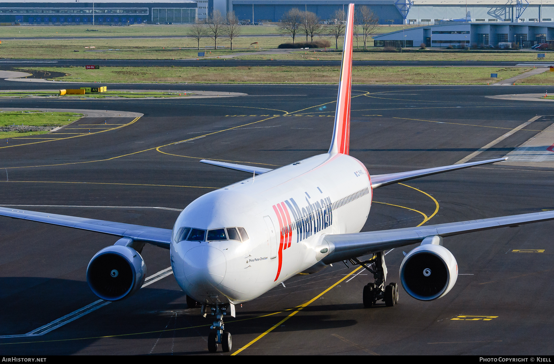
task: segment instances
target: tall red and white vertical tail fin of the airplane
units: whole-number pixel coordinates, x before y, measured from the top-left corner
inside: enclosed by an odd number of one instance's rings
[[[348,154],[350,152],[350,97],[352,93],[352,37],[354,24],[354,4],[348,4],[345,41],[342,46],[341,78],[338,81],[337,110],[335,128],[329,153]]]

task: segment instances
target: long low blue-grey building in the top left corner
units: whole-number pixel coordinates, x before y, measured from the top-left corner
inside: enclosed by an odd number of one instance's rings
[[[153,2],[147,0],[117,0],[84,2],[56,0],[0,3],[0,23],[19,24],[189,24],[197,18],[197,2],[178,0]],[[207,7],[207,6],[206,6]],[[207,10],[207,9],[206,9]]]

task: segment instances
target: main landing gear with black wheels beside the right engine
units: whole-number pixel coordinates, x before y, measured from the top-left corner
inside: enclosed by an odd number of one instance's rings
[[[375,282],[370,282],[363,287],[362,300],[363,306],[370,308],[375,305],[378,300],[383,300],[384,304],[392,307],[398,303],[398,284],[389,283],[385,285],[387,280],[387,266],[384,263],[383,252],[373,254],[373,257],[365,262],[359,259],[352,259],[352,264],[360,264],[366,268],[368,272],[373,274]]]

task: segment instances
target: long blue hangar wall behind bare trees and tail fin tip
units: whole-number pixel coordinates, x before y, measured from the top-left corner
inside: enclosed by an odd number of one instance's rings
[[[321,20],[330,20],[335,11],[345,9],[352,1],[260,1],[260,0],[230,0],[232,10],[240,20],[252,20],[254,8],[254,22],[269,20],[279,22],[283,14],[290,9],[298,8],[300,11],[309,11],[317,14]],[[356,6],[366,5],[379,17],[379,24],[402,24],[403,18],[394,1],[355,1]]]

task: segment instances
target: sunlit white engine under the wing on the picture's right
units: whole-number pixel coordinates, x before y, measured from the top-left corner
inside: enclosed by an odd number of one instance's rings
[[[458,263],[447,248],[423,244],[409,252],[400,265],[400,282],[413,298],[443,297],[458,279]]]

